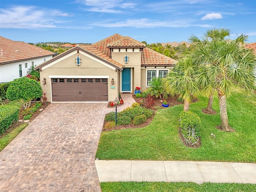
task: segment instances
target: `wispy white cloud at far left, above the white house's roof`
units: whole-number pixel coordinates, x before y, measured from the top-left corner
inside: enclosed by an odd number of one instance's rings
[[[72,14],[58,10],[44,10],[35,6],[13,6],[0,9],[1,28],[56,28],[56,23],[63,23],[63,17]]]

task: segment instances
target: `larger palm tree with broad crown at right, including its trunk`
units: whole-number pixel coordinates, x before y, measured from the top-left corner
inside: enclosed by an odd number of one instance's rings
[[[230,96],[234,82],[246,92],[256,90],[256,76],[253,74],[256,58],[251,50],[242,46],[248,36],[242,34],[235,40],[225,40],[229,34],[230,31],[226,29],[213,29],[206,32],[207,37],[202,41],[196,36],[190,38],[194,41],[190,55],[201,65],[196,78],[204,85],[204,92],[209,97],[217,91],[224,131],[232,130],[228,124],[226,97]]]

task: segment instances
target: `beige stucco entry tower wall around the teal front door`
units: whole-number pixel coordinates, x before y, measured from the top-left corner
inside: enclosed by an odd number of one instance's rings
[[[124,62],[125,55],[129,57],[128,63]],[[126,48],[120,48],[120,52],[119,48],[115,48],[112,52],[112,59],[123,64],[124,68],[131,68],[131,92],[134,92],[135,87],[141,87],[141,52],[139,48],[135,48],[134,51],[132,48],[128,48],[127,51]],[[120,86],[122,86],[121,80],[120,78]]]

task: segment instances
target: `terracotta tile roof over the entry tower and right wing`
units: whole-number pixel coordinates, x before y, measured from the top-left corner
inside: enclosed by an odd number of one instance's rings
[[[103,40],[100,40],[92,46],[106,53],[109,57],[111,57],[110,49],[111,47],[145,47],[145,44],[139,42],[133,38],[128,36],[122,36],[120,34],[114,34],[110,37],[107,37]],[[154,50],[149,48],[143,48],[141,54],[141,64],[142,65],[174,65],[176,60],[167,57],[163,54],[160,54]]]

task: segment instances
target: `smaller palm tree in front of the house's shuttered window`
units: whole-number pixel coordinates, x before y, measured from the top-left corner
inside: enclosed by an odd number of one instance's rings
[[[164,78],[167,93],[178,95],[184,101],[184,111],[189,110],[189,104],[194,97],[200,94],[200,89],[194,79],[195,65],[191,58],[182,58],[178,61],[168,76]]]

